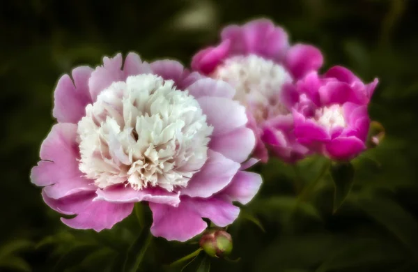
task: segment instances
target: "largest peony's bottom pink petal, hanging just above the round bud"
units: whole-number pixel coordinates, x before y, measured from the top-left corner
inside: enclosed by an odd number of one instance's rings
[[[149,205],[153,212],[153,225],[150,229],[153,236],[185,242],[208,227],[199,213],[183,202],[178,207],[153,202]]]

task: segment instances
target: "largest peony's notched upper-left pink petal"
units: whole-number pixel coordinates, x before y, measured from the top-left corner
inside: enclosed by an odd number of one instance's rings
[[[93,69],[80,66],[72,70],[72,79],[63,75],[54,91],[52,115],[60,123],[77,123],[86,114],[86,105],[92,102],[88,92],[88,78]]]

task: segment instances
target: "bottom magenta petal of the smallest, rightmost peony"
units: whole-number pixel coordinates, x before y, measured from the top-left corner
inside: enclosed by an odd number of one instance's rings
[[[338,137],[332,139],[326,145],[327,153],[336,160],[350,160],[366,149],[361,139],[350,137]]]

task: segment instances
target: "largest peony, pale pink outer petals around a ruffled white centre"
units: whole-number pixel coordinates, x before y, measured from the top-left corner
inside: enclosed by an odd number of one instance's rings
[[[63,75],[54,93],[58,121],[42,143],[31,181],[76,229],[111,228],[148,202],[151,232],[186,241],[237,218],[261,176],[242,168],[254,147],[245,108],[225,82],[189,73],[177,61],[146,63],[134,53],[105,57]]]

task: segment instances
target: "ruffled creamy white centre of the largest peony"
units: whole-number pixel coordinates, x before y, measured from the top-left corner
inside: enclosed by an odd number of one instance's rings
[[[206,162],[213,128],[197,100],[172,80],[136,75],[114,82],[78,123],[79,169],[96,186],[172,191]]]

